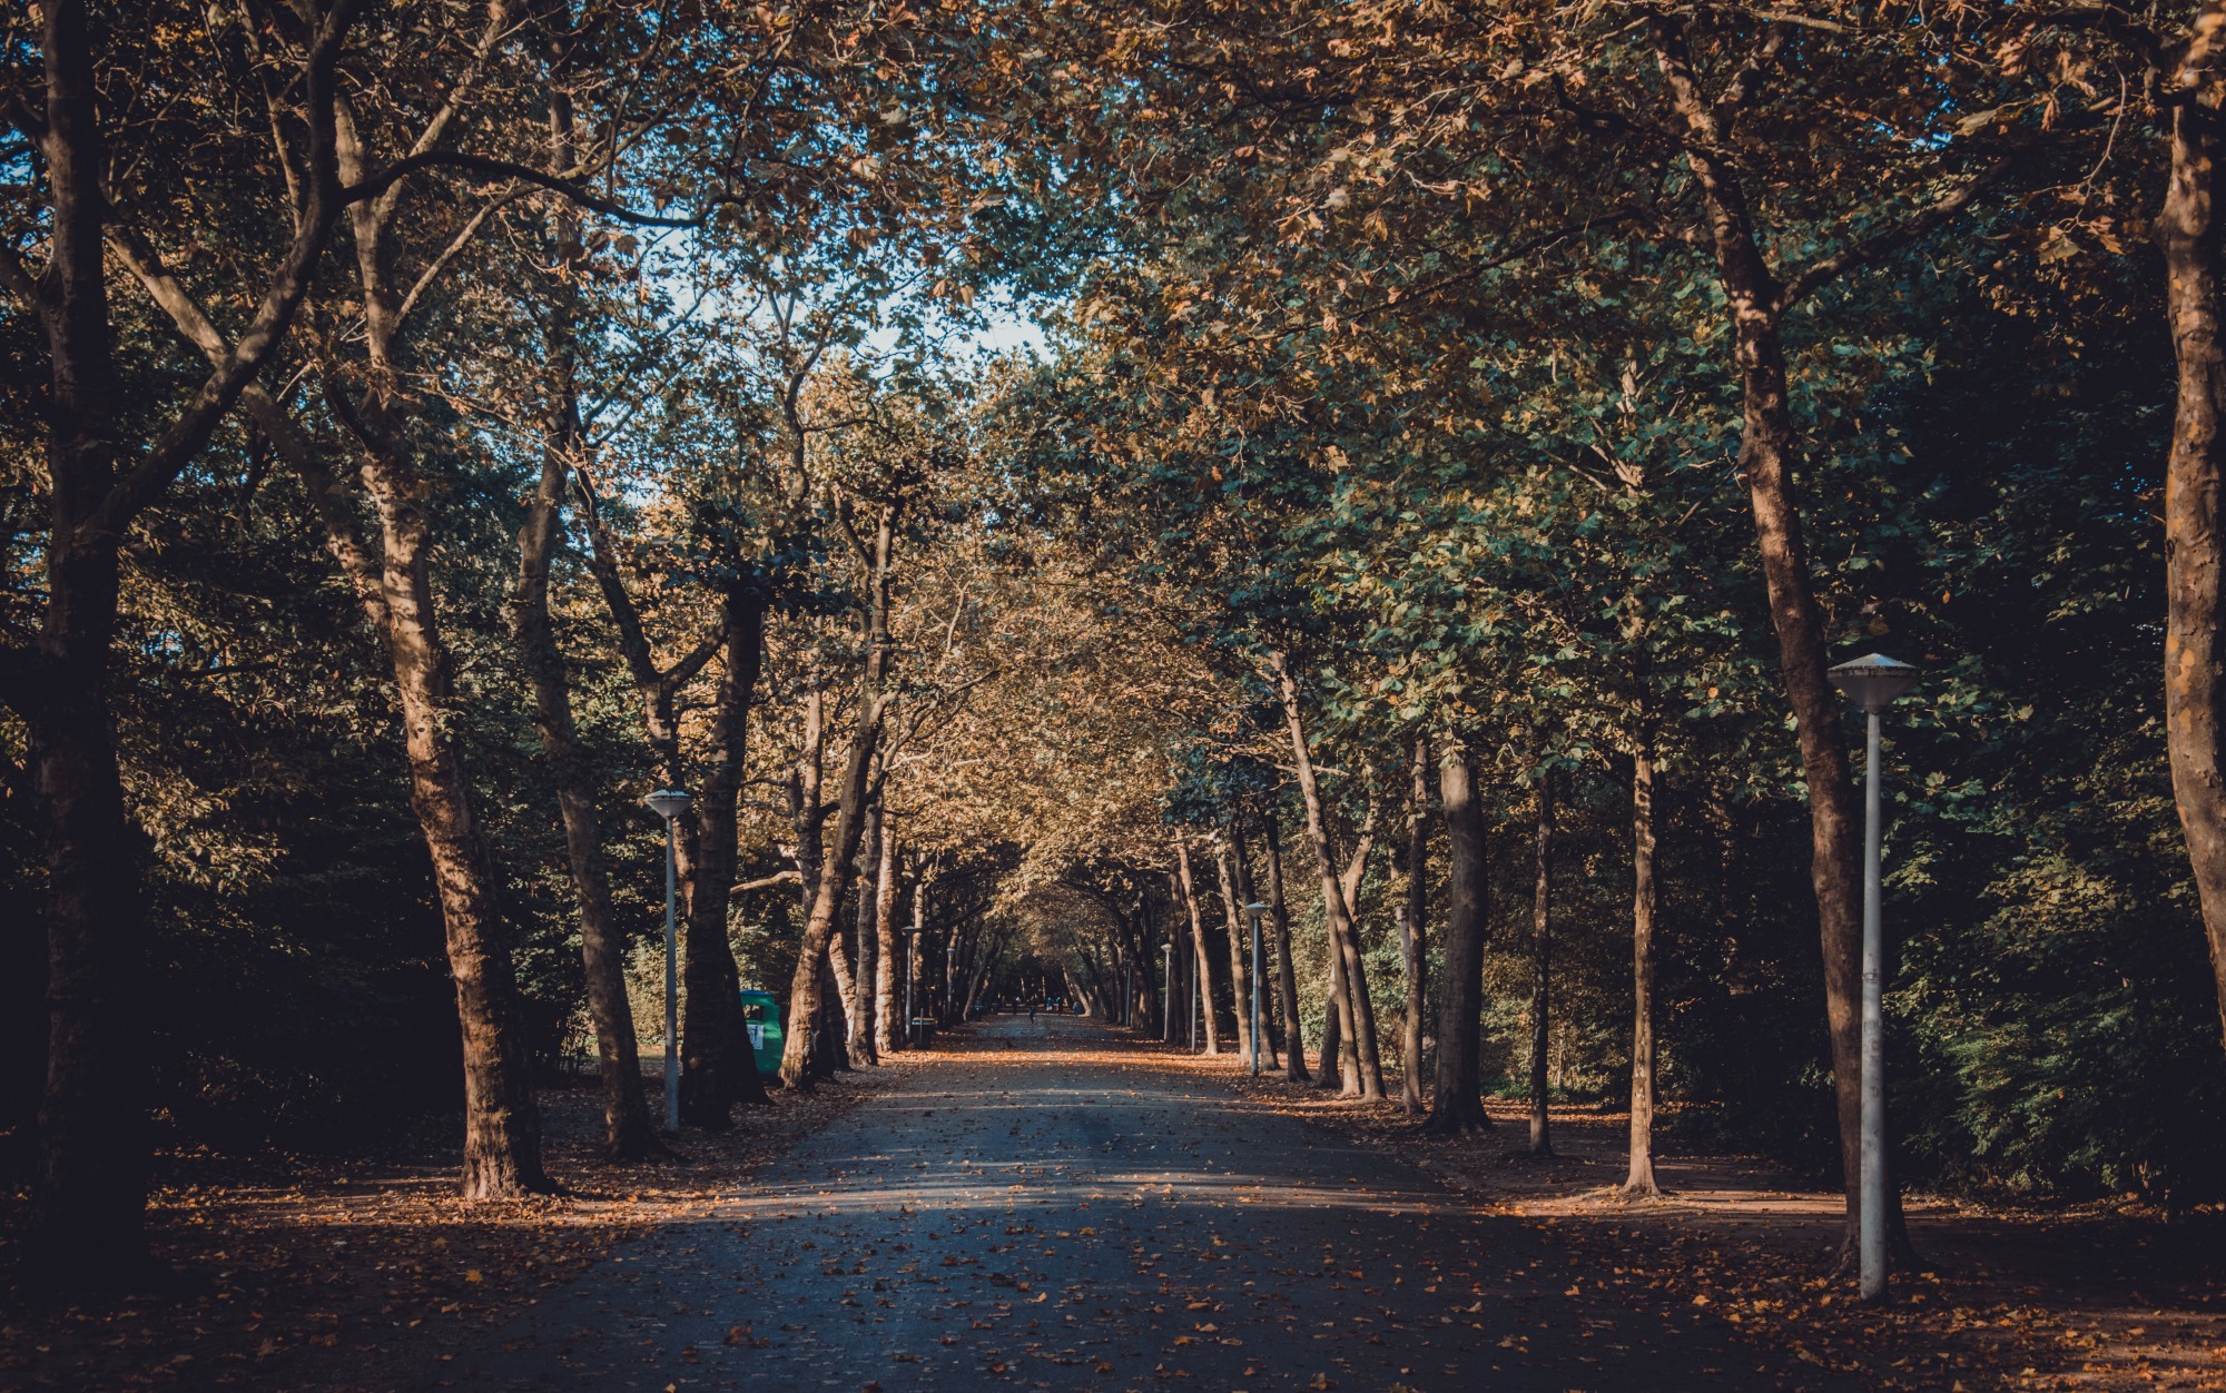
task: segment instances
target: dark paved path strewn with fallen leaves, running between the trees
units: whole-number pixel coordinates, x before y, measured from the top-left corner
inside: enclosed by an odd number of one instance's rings
[[[1153,1066],[999,1017],[719,1219],[641,1239],[447,1384],[1792,1389],[1674,1293],[1625,1308],[1518,1219]],[[439,1386],[439,1384],[430,1384]]]

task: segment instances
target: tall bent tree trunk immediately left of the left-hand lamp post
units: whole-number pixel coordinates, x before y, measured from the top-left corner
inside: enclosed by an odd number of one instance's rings
[[[550,169],[574,160],[572,93],[550,93]],[[563,523],[563,496],[579,445],[579,354],[574,343],[579,292],[572,271],[581,260],[579,209],[559,200],[550,216],[559,276],[550,289],[548,374],[550,401],[543,427],[541,483],[525,505],[519,532],[519,581],[510,594],[510,634],[534,692],[534,730],[541,759],[556,786],[563,819],[572,895],[579,901],[579,955],[588,986],[588,1017],[603,1081],[603,1155],[641,1159],[670,1155],[657,1139],[650,1101],[641,1088],[641,1055],[634,1012],[626,997],[626,946],[610,923],[610,877],[603,870],[603,832],[594,806],[594,772],[579,745],[572,721],[572,688],[565,679],[556,628],[550,623],[550,563]]]

